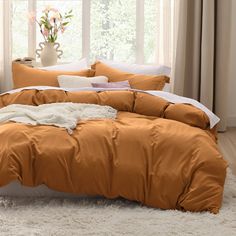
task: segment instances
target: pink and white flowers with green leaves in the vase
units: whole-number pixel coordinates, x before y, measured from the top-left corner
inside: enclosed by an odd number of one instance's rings
[[[72,10],[62,15],[58,9],[51,6],[46,6],[40,20],[36,19],[35,14],[29,16],[31,21],[35,21],[39,25],[45,42],[49,43],[55,43],[58,33],[63,34],[65,32],[72,17]]]

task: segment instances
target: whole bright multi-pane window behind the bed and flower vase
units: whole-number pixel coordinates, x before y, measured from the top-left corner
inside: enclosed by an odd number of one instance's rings
[[[62,61],[87,57],[170,65],[174,0],[11,0],[12,58],[35,57],[43,41],[28,13],[46,5],[73,9],[67,31],[58,38]]]

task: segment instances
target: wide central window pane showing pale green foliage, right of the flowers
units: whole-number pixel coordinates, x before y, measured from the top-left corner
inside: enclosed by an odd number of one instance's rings
[[[92,0],[90,59],[134,62],[136,0]]]

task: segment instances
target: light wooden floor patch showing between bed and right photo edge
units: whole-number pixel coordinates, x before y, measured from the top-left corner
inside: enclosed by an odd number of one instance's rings
[[[218,138],[224,158],[236,175],[236,128],[228,128],[225,133],[219,133]]]

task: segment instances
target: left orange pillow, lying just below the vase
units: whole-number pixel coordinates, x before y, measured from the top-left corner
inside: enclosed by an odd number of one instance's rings
[[[79,75],[93,76],[91,70],[81,71],[45,71],[36,68],[30,68],[20,63],[12,63],[12,77],[14,88],[28,86],[54,86],[59,87],[57,82],[58,75]]]

